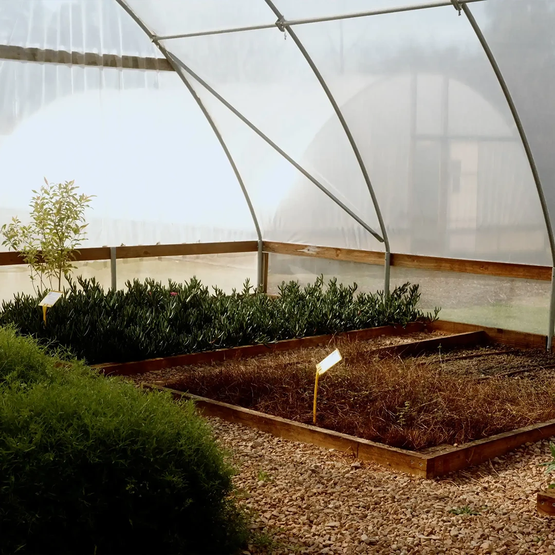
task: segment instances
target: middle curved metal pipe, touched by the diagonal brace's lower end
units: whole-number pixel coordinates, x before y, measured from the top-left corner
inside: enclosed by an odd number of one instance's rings
[[[370,196],[372,198],[372,204],[374,204],[374,210],[376,211],[376,216],[380,224],[380,231],[381,231],[382,238],[384,238],[384,246],[385,246],[385,253],[386,253],[384,258],[384,265],[385,265],[384,292],[386,295],[389,295],[390,261],[391,261],[391,249],[389,246],[389,239],[387,238],[387,231],[384,224],[384,218],[382,218],[380,205],[377,201],[376,194],[374,192],[374,187],[372,187],[370,176],[368,175],[368,171],[366,170],[366,164],[364,163],[364,160],[362,160],[362,155],[360,154],[359,147],[357,147],[355,138],[352,136],[349,125],[347,125],[347,122],[345,120],[343,113],[341,112],[341,108],[339,107],[339,104],[337,104],[334,98],[334,95],[331,93],[331,90],[327,86],[327,83],[324,77],[322,77],[320,70],[316,67],[314,60],[312,60],[312,58],[310,57],[310,54],[307,52],[306,48],[304,47],[304,44],[302,44],[301,40],[299,39],[299,37],[297,37],[293,29],[290,28],[289,24],[287,24],[284,15],[274,5],[272,0],[265,0],[265,1],[266,1],[266,4],[268,4],[268,6],[270,7],[271,11],[273,11],[275,16],[278,18],[278,23],[276,23],[276,25],[278,26],[280,31],[285,32],[285,29],[287,29],[287,32],[289,32],[290,37],[293,39],[293,42],[297,45],[297,48],[299,48],[299,50],[301,51],[302,56],[304,56],[306,62],[310,65],[310,69],[312,69],[312,73],[316,75],[316,79],[318,79],[318,82],[320,83],[322,89],[324,89],[327,99],[330,101],[330,104],[334,108],[334,112],[337,115],[337,118],[339,118],[341,127],[343,128],[345,135],[347,135],[347,139],[349,140],[352,151],[355,153],[356,160],[359,163],[360,170],[362,171],[362,175],[364,176],[366,186],[370,192]]]

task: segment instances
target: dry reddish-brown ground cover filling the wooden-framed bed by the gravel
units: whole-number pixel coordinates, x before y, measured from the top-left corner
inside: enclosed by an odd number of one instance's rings
[[[344,360],[320,380],[320,427],[425,450],[555,418],[555,370],[543,369],[555,365],[555,357],[543,351],[488,346],[379,358],[365,352],[376,348],[368,343],[338,345]],[[174,368],[163,380],[144,375],[141,381],[312,423],[315,365],[329,352],[331,347]],[[496,376],[522,368],[534,370]]]

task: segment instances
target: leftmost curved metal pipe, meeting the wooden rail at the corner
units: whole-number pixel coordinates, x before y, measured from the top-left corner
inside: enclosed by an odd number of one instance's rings
[[[235,177],[236,177],[237,181],[239,182],[239,186],[241,188],[241,191],[243,191],[243,195],[245,197],[246,204],[249,207],[250,215],[253,218],[253,223],[254,223],[254,226],[255,226],[255,229],[256,229],[256,235],[258,236],[258,264],[257,264],[256,274],[257,274],[257,280],[258,280],[258,287],[261,287],[263,285],[263,281],[264,281],[262,232],[260,230],[260,225],[258,223],[258,218],[256,218],[256,213],[254,211],[254,206],[253,206],[253,203],[251,203],[250,196],[249,196],[248,191],[246,190],[243,178],[241,178],[241,174],[239,173],[239,169],[237,168],[237,166],[235,164],[235,160],[231,156],[231,153],[229,152],[229,149],[228,149],[227,145],[225,144],[224,138],[221,136],[221,133],[220,133],[218,127],[216,126],[214,120],[212,119],[210,113],[206,109],[202,100],[200,100],[200,98],[198,97],[198,94],[196,94],[193,86],[189,83],[189,80],[185,77],[185,75],[181,71],[181,68],[175,63],[175,61],[174,61],[173,57],[170,55],[170,53],[168,51],[166,51],[166,49],[162,46],[162,44],[160,44],[155,39],[154,34],[152,32],[150,32],[150,29],[141,21],[141,19],[137,16],[137,14],[135,14],[133,9],[130,6],[128,6],[128,4],[124,0],[116,0],[116,2],[125,10],[125,12],[127,12],[129,14],[130,17],[133,18],[133,21],[135,21],[135,23],[137,23],[138,26],[141,29],[143,29],[143,31],[147,34],[147,36],[150,38],[150,40],[158,47],[159,51],[162,52],[164,57],[170,63],[171,67],[173,67],[175,72],[179,75],[181,81],[183,81],[183,83],[185,84],[185,87],[189,90],[191,95],[193,95],[193,98],[195,99],[196,104],[198,104],[199,108],[201,109],[202,113],[204,114],[204,117],[206,118],[206,120],[210,124],[210,127],[212,128],[214,134],[216,135],[216,138],[218,138],[218,141],[221,145],[221,148],[223,148],[223,150],[225,152],[225,155],[228,158],[228,161],[231,165],[231,168],[233,169],[233,173],[235,174]]]

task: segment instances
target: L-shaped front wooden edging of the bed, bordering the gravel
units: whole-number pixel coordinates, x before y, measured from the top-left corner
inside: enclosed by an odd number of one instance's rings
[[[390,447],[383,443],[363,440],[345,433],[325,430],[317,426],[267,415],[263,412],[213,401],[155,384],[145,384],[143,387],[170,392],[174,398],[193,400],[204,416],[216,416],[228,422],[243,424],[287,440],[302,441],[319,447],[352,453],[363,461],[375,462],[392,470],[422,478],[436,478],[469,466],[479,465],[493,457],[505,455],[524,443],[555,435],[555,420],[551,420],[511,432],[499,433],[458,447],[449,447],[433,453],[422,453]]]

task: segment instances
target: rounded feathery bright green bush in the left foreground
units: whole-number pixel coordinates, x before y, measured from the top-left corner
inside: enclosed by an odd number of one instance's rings
[[[1,553],[232,553],[231,468],[194,413],[0,328]]]

